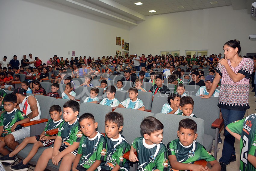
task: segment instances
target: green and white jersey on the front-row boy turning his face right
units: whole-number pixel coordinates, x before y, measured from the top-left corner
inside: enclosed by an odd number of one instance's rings
[[[167,149],[164,143],[148,145],[143,137],[135,138],[132,146],[137,151],[139,170],[168,170]]]

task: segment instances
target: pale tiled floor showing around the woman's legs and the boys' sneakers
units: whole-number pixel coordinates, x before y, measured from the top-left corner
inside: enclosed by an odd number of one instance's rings
[[[256,105],[255,105],[255,93],[251,92],[252,89],[250,89],[250,93],[249,93],[249,104],[250,104],[250,109],[248,109],[245,113],[245,117],[247,117],[248,115],[252,114],[252,113],[256,113],[255,109],[256,109]],[[221,139],[222,141],[224,141],[224,137],[223,137],[223,131],[221,132]],[[220,159],[221,157],[221,152],[222,152],[222,148],[223,148],[223,144],[218,144],[218,148],[220,148],[220,150],[217,153],[217,161]],[[235,141],[235,148],[236,148],[236,161],[235,162],[231,162],[229,165],[227,165],[227,171],[234,171],[234,170],[238,170],[239,166],[240,166],[240,152],[239,152],[239,140],[236,139]],[[213,154],[213,151],[212,151]],[[17,164],[18,162],[16,162],[15,164]],[[10,171],[9,167],[5,167],[6,171]],[[34,170],[35,168],[30,166],[29,171]]]

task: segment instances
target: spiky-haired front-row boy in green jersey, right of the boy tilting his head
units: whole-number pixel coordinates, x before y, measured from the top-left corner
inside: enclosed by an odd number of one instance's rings
[[[119,132],[123,129],[123,116],[109,112],[105,116],[105,137],[107,139],[107,159],[101,171],[129,171],[128,161],[123,154],[130,151],[130,145]]]

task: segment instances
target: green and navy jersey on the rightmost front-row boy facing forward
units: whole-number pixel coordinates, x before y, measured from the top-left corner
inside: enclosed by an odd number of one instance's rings
[[[203,145],[197,141],[189,146],[183,146],[179,139],[170,141],[167,144],[168,156],[175,155],[180,163],[194,163],[197,160],[214,161],[215,158],[208,153]]]

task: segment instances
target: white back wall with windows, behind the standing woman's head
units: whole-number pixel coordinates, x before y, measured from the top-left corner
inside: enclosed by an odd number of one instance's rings
[[[256,52],[256,41],[248,39],[256,33],[256,20],[245,10],[232,6],[204,10],[153,15],[130,29],[130,54],[160,54],[160,51],[206,50],[223,54],[225,42],[238,39],[242,55]]]

